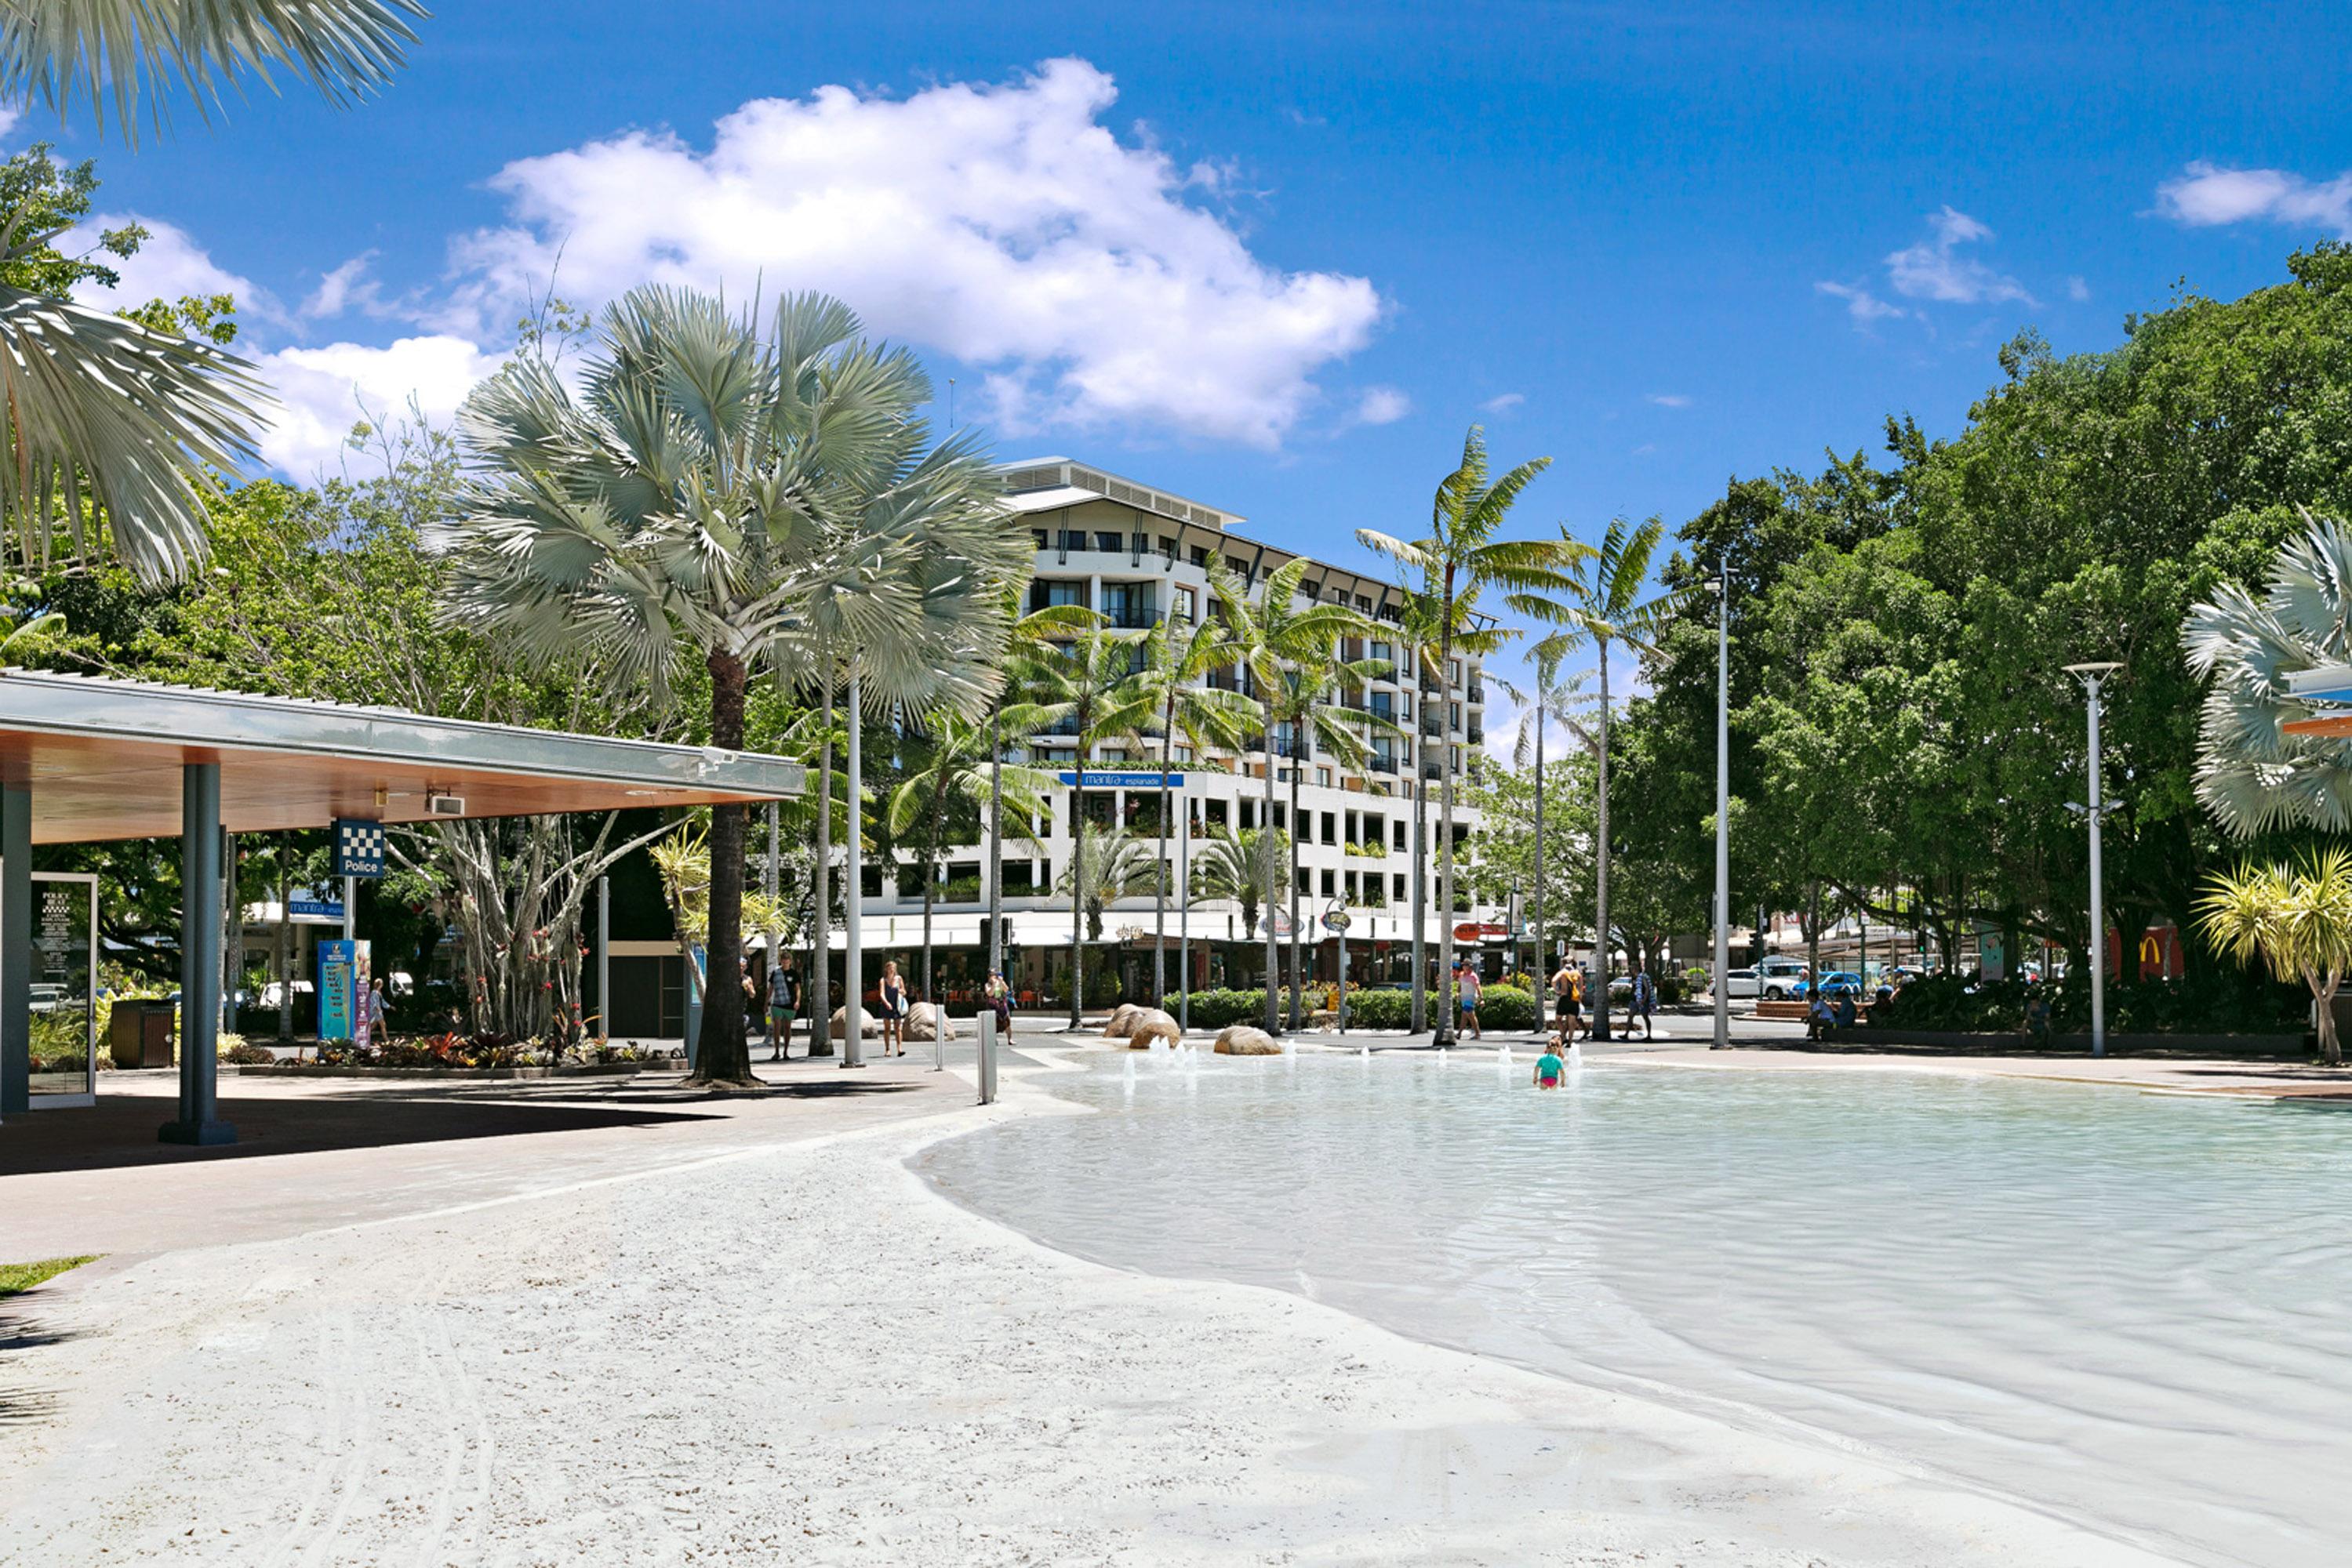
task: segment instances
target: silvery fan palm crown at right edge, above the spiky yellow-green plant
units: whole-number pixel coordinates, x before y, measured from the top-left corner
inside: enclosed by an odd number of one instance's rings
[[[2197,799],[2237,839],[2352,827],[2352,741],[2284,729],[2314,715],[2286,677],[2352,658],[2352,534],[2333,517],[2303,522],[2260,597],[2223,583],[2180,628],[2190,670],[2206,679]]]

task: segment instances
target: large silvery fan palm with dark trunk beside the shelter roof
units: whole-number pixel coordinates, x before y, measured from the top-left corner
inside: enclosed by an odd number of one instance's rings
[[[844,651],[851,693],[861,672],[880,677],[870,703],[976,708],[995,672],[974,607],[1000,597],[990,574],[1014,557],[985,456],[967,440],[927,447],[915,414],[929,395],[915,360],[866,341],[835,299],[788,296],[760,320],[635,289],[600,317],[579,390],[527,355],[466,400],[473,487],[447,614],[656,691],[694,658],[720,748],[743,745],[757,661],[807,672],[823,658],[830,689]],[[856,722],[854,698],[851,757]],[[849,790],[856,811],[856,769]],[[851,835],[851,875],[856,853]],[[741,806],[713,809],[710,858],[708,964],[727,976]],[[701,1077],[748,1081],[743,1025],[741,990],[710,987]]]

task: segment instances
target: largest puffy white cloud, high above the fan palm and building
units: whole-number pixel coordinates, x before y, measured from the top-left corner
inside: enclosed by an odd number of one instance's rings
[[[1209,165],[1122,143],[1080,59],[906,99],[755,99],[708,150],[630,132],[506,165],[510,221],[454,247],[449,310],[482,336],[555,292],[637,282],[828,289],[894,339],[985,367],[1004,433],[1160,425],[1275,447],[1312,376],[1381,320],[1369,280],[1284,273],[1195,205]],[[1223,176],[1214,183],[1223,186]]]

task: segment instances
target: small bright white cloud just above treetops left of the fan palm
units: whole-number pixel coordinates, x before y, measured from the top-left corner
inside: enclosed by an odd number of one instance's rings
[[[261,433],[261,456],[296,480],[339,473],[355,423],[402,418],[412,404],[445,423],[501,357],[449,334],[400,339],[388,348],[329,343],[261,355],[261,376],[280,400]]]

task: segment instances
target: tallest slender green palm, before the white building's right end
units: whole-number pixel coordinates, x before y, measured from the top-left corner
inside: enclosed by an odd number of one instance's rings
[[[1439,715],[1451,712],[1454,698],[1454,642],[1456,602],[1463,592],[1496,583],[1519,592],[1557,590],[1564,585],[1562,567],[1566,557],[1550,541],[1496,538],[1519,494],[1552,465],[1552,458],[1529,458],[1501,477],[1486,465],[1486,433],[1470,425],[1463,437],[1463,461],[1437,482],[1430,498],[1430,531],[1418,541],[1402,541],[1378,529],[1357,529],[1355,538],[1369,550],[1392,557],[1411,571],[1421,571],[1437,590],[1437,672]],[[1423,708],[1428,703],[1423,701]],[[1423,736],[1428,726],[1423,726]],[[1423,748],[1428,750],[1428,748]],[[1439,797],[1437,884],[1446,917],[1437,924],[1437,973],[1444,976],[1444,1018],[1437,1023],[1437,1039],[1454,1039],[1454,762],[1451,748],[1439,733],[1439,757],[1444,759]]]

